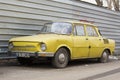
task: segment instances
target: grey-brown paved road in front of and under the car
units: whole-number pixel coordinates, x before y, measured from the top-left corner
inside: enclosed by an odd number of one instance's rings
[[[50,63],[5,62],[0,64],[0,80],[120,80],[120,61],[73,61],[64,69],[54,69]]]

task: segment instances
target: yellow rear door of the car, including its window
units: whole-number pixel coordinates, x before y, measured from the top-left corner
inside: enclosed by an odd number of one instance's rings
[[[86,26],[86,32],[89,40],[89,57],[99,57],[103,50],[102,37],[97,33],[97,29],[94,26]]]

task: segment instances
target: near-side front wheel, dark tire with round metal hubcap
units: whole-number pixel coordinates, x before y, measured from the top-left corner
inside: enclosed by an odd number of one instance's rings
[[[52,58],[52,65],[55,68],[64,68],[67,66],[69,62],[69,54],[68,51],[64,48],[60,48],[55,56]]]

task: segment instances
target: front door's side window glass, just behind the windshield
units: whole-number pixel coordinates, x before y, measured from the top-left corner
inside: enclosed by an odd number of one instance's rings
[[[85,36],[85,29],[83,25],[76,25],[74,34],[77,36]]]

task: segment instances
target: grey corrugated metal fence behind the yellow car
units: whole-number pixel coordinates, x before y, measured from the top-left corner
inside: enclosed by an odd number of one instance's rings
[[[0,53],[13,37],[33,35],[46,22],[90,20],[120,49],[120,13],[74,0],[0,0]]]

